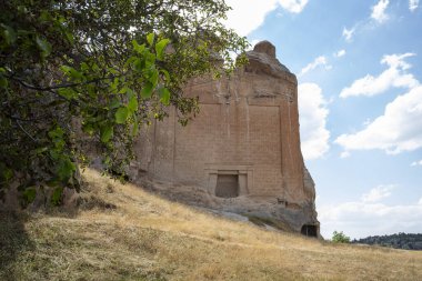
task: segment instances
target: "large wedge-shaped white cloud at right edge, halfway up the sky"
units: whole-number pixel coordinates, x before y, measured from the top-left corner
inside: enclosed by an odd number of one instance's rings
[[[422,148],[422,86],[396,97],[383,116],[356,133],[340,136],[335,143],[345,151],[381,149],[389,154]]]

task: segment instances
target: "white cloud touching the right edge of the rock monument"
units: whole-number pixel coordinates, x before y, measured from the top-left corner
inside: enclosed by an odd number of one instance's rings
[[[329,110],[321,88],[315,83],[299,84],[301,148],[305,160],[322,157],[329,149],[326,130]]]

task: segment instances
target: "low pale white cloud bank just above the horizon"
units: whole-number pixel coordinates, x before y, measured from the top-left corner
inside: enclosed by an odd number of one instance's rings
[[[386,198],[390,192],[381,191],[380,198]],[[321,232],[325,238],[331,238],[334,230],[344,231],[352,238],[422,232],[422,198],[413,204],[396,205],[359,200],[322,205],[318,208],[318,213]]]

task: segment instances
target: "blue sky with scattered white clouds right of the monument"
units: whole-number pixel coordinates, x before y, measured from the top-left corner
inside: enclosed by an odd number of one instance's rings
[[[227,0],[299,82],[321,233],[422,233],[422,1]]]

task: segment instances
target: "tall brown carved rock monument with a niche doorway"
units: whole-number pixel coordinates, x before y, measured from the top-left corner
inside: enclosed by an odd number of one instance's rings
[[[268,41],[248,58],[229,79],[192,80],[184,92],[199,97],[200,113],[181,127],[172,109],[168,119],[145,128],[138,162],[149,178],[172,183],[169,192],[184,201],[273,218],[316,237],[314,183],[300,149],[297,78]]]

